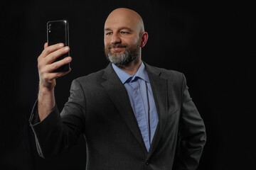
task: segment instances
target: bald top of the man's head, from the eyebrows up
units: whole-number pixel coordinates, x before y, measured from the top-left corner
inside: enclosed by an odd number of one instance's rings
[[[105,21],[105,30],[108,28],[127,27],[139,34],[144,32],[144,23],[139,13],[129,8],[114,9]]]

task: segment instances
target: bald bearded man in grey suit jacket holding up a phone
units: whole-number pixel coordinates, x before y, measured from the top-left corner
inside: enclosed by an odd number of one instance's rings
[[[87,169],[196,169],[206,131],[183,74],[142,62],[148,33],[135,11],[112,11],[104,40],[111,63],[75,79],[60,114],[55,79],[70,70],[53,71],[72,59],[53,62],[69,47],[45,44],[38,57],[38,101],[30,119],[41,157],[60,154],[83,133]]]

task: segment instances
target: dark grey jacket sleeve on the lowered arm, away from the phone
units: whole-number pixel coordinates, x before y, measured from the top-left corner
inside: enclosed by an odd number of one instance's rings
[[[188,93],[188,86],[186,85],[184,75],[178,135],[178,149],[174,170],[196,170],[203,147],[206,144],[206,128]]]

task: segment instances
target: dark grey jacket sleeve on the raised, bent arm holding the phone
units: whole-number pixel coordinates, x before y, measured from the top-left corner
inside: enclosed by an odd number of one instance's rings
[[[63,111],[59,113],[55,106],[41,122],[37,102],[29,122],[36,137],[38,154],[43,158],[52,157],[75,145],[85,126],[85,96],[80,83],[73,81]]]

